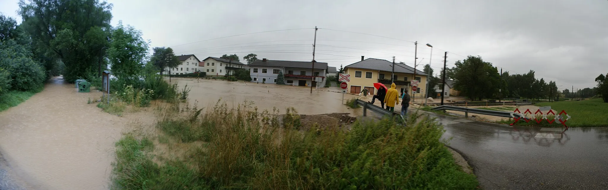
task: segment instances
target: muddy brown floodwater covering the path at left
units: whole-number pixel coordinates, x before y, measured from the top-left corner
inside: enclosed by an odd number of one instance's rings
[[[133,121],[87,104],[101,95],[93,91],[78,93],[54,78],[43,92],[0,112],[4,189],[109,188],[114,142]]]

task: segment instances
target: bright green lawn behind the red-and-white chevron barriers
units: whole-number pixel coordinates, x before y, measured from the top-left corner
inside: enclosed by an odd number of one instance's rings
[[[601,99],[582,101],[555,101],[537,103],[535,106],[551,106],[559,114],[565,110],[572,118],[566,122],[568,127],[608,127],[608,103]],[[559,121],[558,121],[559,123]]]

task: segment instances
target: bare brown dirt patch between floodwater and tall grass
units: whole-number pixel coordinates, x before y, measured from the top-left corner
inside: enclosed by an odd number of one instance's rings
[[[349,113],[331,113],[320,115],[300,115],[300,123],[303,130],[308,130],[317,124],[319,128],[338,127],[348,129],[356,121],[356,117],[351,117]]]

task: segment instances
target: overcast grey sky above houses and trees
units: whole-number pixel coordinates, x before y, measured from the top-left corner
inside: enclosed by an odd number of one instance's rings
[[[534,70],[537,78],[557,81],[560,90],[594,87],[595,77],[608,73],[606,0],[108,2],[114,4],[112,25],[122,20],[142,30],[151,47],[173,47],[199,59],[237,53],[244,63],[243,56],[256,53],[260,59],[309,61],[317,26],[316,60],[335,67],[361,56],[395,56],[413,66],[418,41],[421,64],[430,58],[424,44],[435,47],[435,73],[445,51],[448,67],[480,55],[511,74]],[[2,0],[0,12],[20,20],[17,3]],[[285,31],[265,32],[271,30]],[[246,33],[254,34],[241,35]],[[240,36],[221,38],[232,35]]]

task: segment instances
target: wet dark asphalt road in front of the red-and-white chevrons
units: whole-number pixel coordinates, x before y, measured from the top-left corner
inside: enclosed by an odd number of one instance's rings
[[[606,127],[513,127],[432,116],[483,189],[608,189]]]

